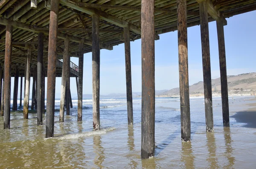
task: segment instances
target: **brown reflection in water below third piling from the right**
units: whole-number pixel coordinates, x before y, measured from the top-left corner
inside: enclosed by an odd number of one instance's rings
[[[185,164],[186,169],[194,169],[195,156],[193,155],[191,142],[182,142],[181,161]]]

